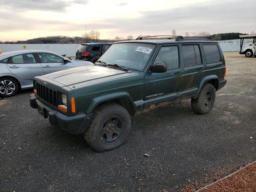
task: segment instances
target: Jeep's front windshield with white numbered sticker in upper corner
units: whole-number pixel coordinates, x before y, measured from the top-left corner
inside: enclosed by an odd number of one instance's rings
[[[142,43],[112,44],[98,61],[141,71],[153,54],[155,47],[154,44]]]

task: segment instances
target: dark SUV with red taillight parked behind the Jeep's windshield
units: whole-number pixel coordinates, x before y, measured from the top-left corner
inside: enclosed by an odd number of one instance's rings
[[[83,43],[76,50],[76,60],[86,60],[95,63],[112,43]]]

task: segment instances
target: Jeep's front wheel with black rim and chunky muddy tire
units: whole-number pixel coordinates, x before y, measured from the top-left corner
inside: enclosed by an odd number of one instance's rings
[[[130,129],[131,118],[126,108],[110,102],[96,109],[84,138],[94,150],[106,151],[122,145]]]

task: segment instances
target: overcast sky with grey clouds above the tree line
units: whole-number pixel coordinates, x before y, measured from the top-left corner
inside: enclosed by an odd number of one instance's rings
[[[0,0],[0,40],[256,32],[255,0]]]

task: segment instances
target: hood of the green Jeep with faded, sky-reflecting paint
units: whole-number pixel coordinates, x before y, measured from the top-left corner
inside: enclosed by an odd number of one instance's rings
[[[79,84],[82,82],[91,82],[92,80],[94,84],[97,84],[100,82],[105,82],[132,75],[134,75],[134,73],[129,71],[121,71],[113,68],[90,65],[70,68],[67,70],[46,74],[44,75],[44,77],[54,80],[65,86],[72,86],[74,84]]]

